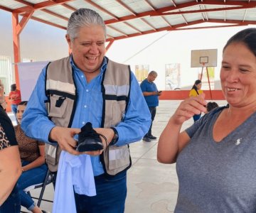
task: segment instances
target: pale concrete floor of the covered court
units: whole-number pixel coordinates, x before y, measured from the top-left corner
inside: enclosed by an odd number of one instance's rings
[[[170,116],[181,101],[160,101],[152,133],[159,138]],[[220,106],[225,101],[216,101]],[[186,121],[182,129],[193,124]],[[128,170],[127,200],[125,213],[167,213],[174,212],[178,195],[178,179],[175,164],[164,165],[156,160],[157,139],[151,142],[139,141],[130,145],[132,168]],[[32,190],[38,196],[39,190]],[[48,185],[43,196],[53,200],[53,186]],[[41,209],[51,212],[52,204],[42,202]],[[70,212],[72,213],[72,212]]]

